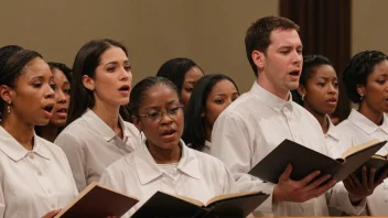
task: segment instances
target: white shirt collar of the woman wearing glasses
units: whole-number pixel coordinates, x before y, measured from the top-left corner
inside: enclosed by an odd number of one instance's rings
[[[182,140],[180,141],[180,145],[182,148],[182,157],[177,164],[177,170],[193,178],[201,178],[200,163],[195,152],[188,149]],[[144,142],[133,152],[133,156],[137,173],[142,185],[154,181],[163,174]]]

